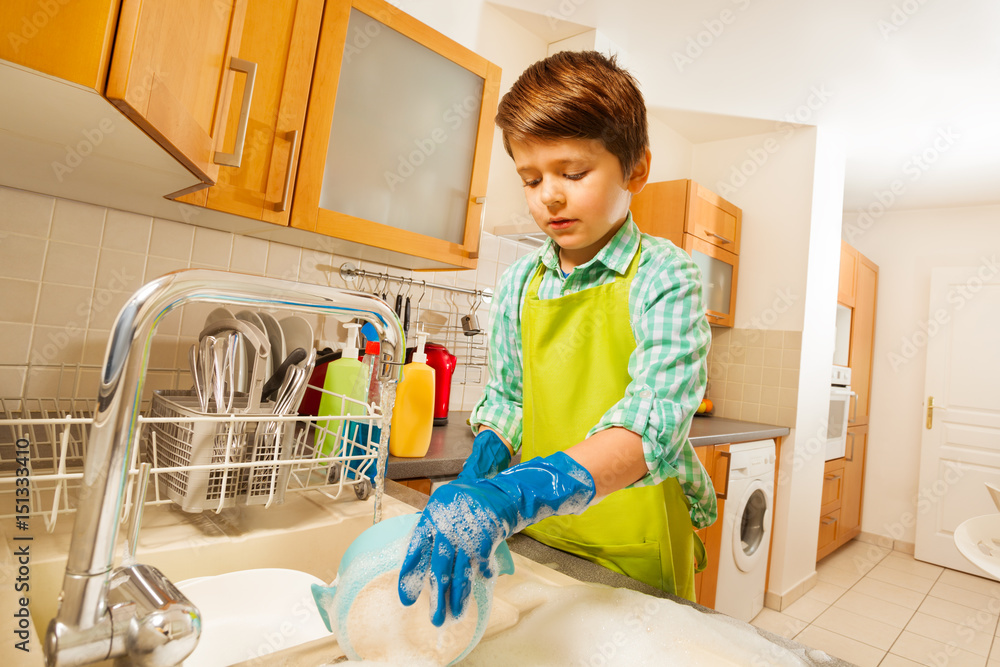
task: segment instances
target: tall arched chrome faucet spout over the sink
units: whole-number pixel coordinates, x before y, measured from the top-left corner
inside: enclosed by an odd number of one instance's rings
[[[45,642],[49,665],[82,665],[124,651],[113,637],[115,609],[125,603],[111,609],[108,589],[150,344],[164,315],[196,302],[370,322],[381,341],[379,379],[399,379],[406,353],[402,325],[370,294],[206,269],[176,271],[140,287],[119,312],[105,352],[59,612]]]

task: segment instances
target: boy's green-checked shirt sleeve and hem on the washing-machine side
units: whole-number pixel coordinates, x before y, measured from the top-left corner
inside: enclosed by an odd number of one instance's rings
[[[643,247],[630,308],[636,349],[625,396],[589,435],[621,426],[642,436],[649,472],[631,486],[678,477],[692,501],[695,524],[711,523],[715,492],[688,442],[695,410],[705,392],[711,328],[705,317],[701,272],[683,252]],[[645,265],[645,266],[644,266]]]

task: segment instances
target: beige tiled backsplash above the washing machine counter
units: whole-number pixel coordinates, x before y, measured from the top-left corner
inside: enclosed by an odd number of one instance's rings
[[[715,415],[795,427],[801,331],[712,327],[708,391]]]

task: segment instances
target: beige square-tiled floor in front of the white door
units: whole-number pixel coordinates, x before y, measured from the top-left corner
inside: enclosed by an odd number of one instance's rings
[[[861,667],[1000,667],[1000,583],[853,541],[752,623]]]

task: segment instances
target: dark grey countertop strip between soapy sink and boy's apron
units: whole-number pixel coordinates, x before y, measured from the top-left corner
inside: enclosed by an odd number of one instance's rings
[[[449,422],[450,421],[451,420],[449,420]],[[735,423],[745,424],[746,422]],[[386,481],[385,490],[390,496],[417,509],[423,509],[423,507],[427,504],[427,496],[405,487],[402,484],[393,482],[392,480]],[[596,563],[591,563],[588,560],[584,560],[564,551],[553,549],[542,544],[541,542],[527,537],[526,535],[513,535],[507,540],[507,546],[510,547],[510,550],[514,553],[520,554],[525,558],[545,565],[546,567],[550,567],[558,572],[562,572],[563,574],[578,581],[603,584],[605,586],[611,586],[612,588],[625,588],[639,593],[644,593],[646,595],[651,595],[653,597],[664,598],[678,604],[694,607],[698,611],[705,614],[719,613],[714,609],[709,609],[708,607],[696,604],[690,600],[685,600],[677,597],[676,595],[671,595],[670,593],[661,591],[658,588],[653,588],[648,584],[636,581],[635,579],[626,577],[623,574],[613,572],[606,567],[597,565]],[[817,654],[816,652],[809,650],[802,650],[806,649],[806,647],[802,644],[790,639],[785,639],[784,637],[768,632],[767,630],[763,630],[749,624],[747,624],[747,627],[752,628],[758,635],[777,646],[797,652],[799,655],[805,654],[805,659],[810,665],[815,665],[817,667],[852,667],[852,663],[841,660],[840,658],[833,656],[827,657],[825,654]],[[822,655],[823,659],[820,659],[820,655]]]

